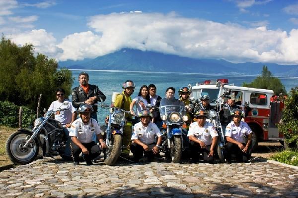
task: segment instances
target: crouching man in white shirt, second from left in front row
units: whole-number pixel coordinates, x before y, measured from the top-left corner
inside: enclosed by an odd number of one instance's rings
[[[154,155],[159,153],[162,134],[156,124],[149,122],[152,119],[149,110],[141,111],[138,116],[141,122],[135,125],[131,138],[134,141],[131,145],[134,161],[139,162],[139,159],[143,157],[143,152],[148,156],[148,161],[153,161]],[[157,143],[155,143],[155,136],[158,137]]]

